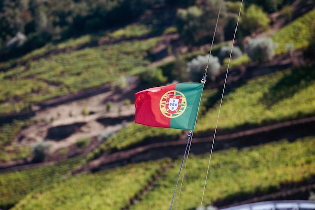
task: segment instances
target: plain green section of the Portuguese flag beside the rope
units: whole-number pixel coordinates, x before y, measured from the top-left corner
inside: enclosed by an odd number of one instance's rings
[[[170,128],[194,130],[203,83],[178,83],[176,90],[183,93],[187,100],[187,106],[182,115],[171,118]]]

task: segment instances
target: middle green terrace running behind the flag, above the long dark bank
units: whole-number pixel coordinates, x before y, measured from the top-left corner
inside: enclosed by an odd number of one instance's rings
[[[315,106],[309,104],[315,104],[314,88],[315,71],[311,67],[287,69],[251,79],[224,95],[218,128],[258,127],[312,116]],[[215,128],[220,97],[217,89],[204,90],[195,133]],[[90,153],[88,160],[155,138],[176,139],[180,133],[177,129],[129,124]]]

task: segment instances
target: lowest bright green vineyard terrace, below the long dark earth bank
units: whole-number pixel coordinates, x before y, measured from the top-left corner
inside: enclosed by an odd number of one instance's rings
[[[208,161],[209,154],[189,156],[180,196],[180,209],[193,209],[200,205]],[[167,163],[169,160],[149,161],[73,176],[43,190],[35,190],[13,209],[121,209],[153,177],[160,176]],[[169,206],[179,166],[180,159],[161,174],[153,188],[141,197],[140,202],[131,206],[131,209],[160,210]],[[210,164],[204,203],[273,192],[281,185],[307,180],[310,175],[314,175],[314,171],[314,137],[215,152]]]

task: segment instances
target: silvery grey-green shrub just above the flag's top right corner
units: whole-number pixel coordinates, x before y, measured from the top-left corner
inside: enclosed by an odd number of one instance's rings
[[[208,63],[209,60],[209,63]],[[190,75],[192,81],[200,81],[206,66],[209,65],[208,77],[213,80],[216,74],[220,71],[220,62],[218,57],[213,57],[212,55],[201,56],[198,55],[192,61],[187,63],[187,72]]]

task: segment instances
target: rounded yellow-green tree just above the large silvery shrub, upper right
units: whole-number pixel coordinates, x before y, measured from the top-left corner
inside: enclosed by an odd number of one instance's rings
[[[241,19],[242,29],[250,34],[264,32],[269,29],[270,19],[267,13],[257,5],[250,5]]]

